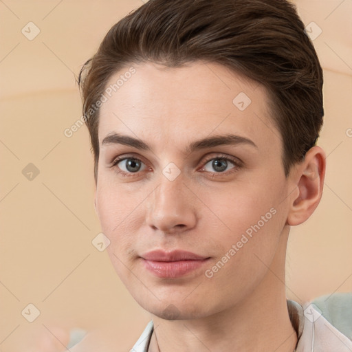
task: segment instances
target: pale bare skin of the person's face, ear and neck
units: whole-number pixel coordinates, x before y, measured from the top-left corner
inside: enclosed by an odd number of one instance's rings
[[[314,146],[286,178],[283,142],[263,86],[214,63],[133,66],[136,73],[100,108],[95,203],[116,272],[151,313],[155,331],[148,351],[294,351],[297,336],[285,291],[287,239],[290,226],[318,206],[325,152]],[[111,76],[107,86],[128,69]],[[232,103],[241,92],[252,100],[243,111]],[[142,140],[150,150],[102,144],[112,133]],[[192,142],[227,134],[252,144],[186,152]],[[140,168],[126,168],[126,159],[111,166],[117,157],[137,159]],[[212,162],[224,157],[225,170],[217,172]],[[170,163],[179,169],[172,181],[162,173]],[[205,271],[272,208],[271,219],[208,278]],[[155,249],[210,259],[181,278],[159,278],[140,258]],[[170,307],[177,318],[165,313]]]

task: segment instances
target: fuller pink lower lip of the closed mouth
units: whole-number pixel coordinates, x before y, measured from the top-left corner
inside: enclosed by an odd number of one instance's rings
[[[147,261],[143,259],[146,269],[159,278],[179,278],[199,269],[207,261],[208,259],[200,261]]]

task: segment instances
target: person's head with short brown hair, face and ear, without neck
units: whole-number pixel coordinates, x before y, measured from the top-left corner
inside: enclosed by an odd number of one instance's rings
[[[113,25],[78,83],[96,210],[132,296],[191,318],[252,292],[325,175],[322,69],[294,5],[150,0]],[[160,277],[144,260],[155,249],[207,259]]]

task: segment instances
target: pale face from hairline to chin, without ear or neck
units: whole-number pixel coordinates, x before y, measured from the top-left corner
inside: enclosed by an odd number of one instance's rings
[[[210,316],[253,292],[274,258],[289,188],[280,133],[263,86],[221,65],[133,67],[100,108],[107,252],[147,311]]]

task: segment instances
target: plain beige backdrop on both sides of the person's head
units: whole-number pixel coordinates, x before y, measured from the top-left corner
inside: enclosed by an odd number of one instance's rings
[[[320,206],[290,234],[287,296],[303,303],[352,291],[352,1],[296,3],[305,24],[322,30],[314,45],[325,69],[319,145],[328,155]],[[2,352],[34,330],[96,329],[112,321],[127,351],[148,322],[107,254],[91,244],[100,225],[87,129],[63,134],[81,116],[74,75],[111,25],[140,5],[0,1]],[[32,41],[21,33],[30,21],[41,31]],[[29,163],[39,169],[32,180],[22,173]],[[29,303],[41,311],[32,323],[21,315]]]

